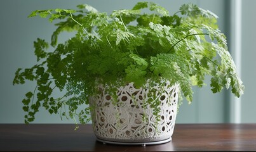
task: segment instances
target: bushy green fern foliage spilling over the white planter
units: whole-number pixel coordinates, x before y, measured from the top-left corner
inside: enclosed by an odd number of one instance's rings
[[[142,13],[142,9],[150,13]],[[51,114],[77,115],[85,123],[89,108],[77,110],[88,105],[96,81],[115,84],[120,79],[140,87],[147,79],[168,79],[179,83],[191,102],[192,85],[202,87],[205,76],[210,75],[213,93],[231,87],[235,96],[243,94],[217,16],[194,4],[183,4],[173,15],[158,4],[140,2],[111,15],[82,4],[77,10],[36,10],[29,15],[33,16],[57,22],[57,29],[50,44],[43,39],[34,42],[38,64],[18,68],[15,73],[13,84],[37,83],[22,100],[25,123],[34,120],[41,106]],[[58,35],[64,31],[76,31],[76,35],[58,43]],[[49,45],[55,47],[53,52],[48,51]],[[67,91],[55,98],[56,90]],[[154,101],[150,104],[159,108]]]

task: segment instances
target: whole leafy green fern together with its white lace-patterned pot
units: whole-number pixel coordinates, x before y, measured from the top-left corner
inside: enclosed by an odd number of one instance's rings
[[[212,76],[213,93],[231,87],[235,96],[243,94],[217,16],[194,4],[183,4],[173,15],[151,2],[111,15],[81,4],[77,10],[36,10],[29,17],[38,15],[57,25],[50,43],[55,50],[37,39],[38,64],[15,73],[13,84],[37,83],[22,100],[26,124],[40,107],[78,117],[81,124],[91,113],[99,141],[158,144],[171,140],[178,98],[191,102],[192,85],[202,87],[206,75]],[[76,35],[58,43],[63,31]],[[55,97],[55,91],[64,96]]]

